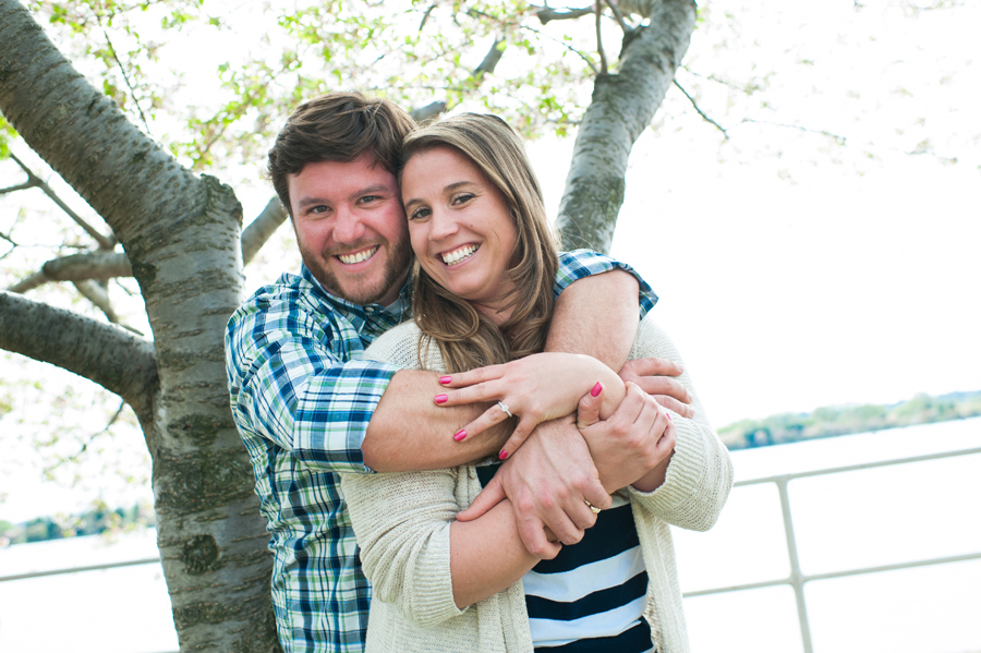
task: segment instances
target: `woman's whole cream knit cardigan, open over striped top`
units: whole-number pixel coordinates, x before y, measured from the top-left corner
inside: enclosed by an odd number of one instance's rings
[[[363,358],[417,368],[419,334],[414,323],[405,323],[375,340]],[[443,371],[438,348],[427,349],[424,367]],[[681,363],[667,335],[649,317],[641,322],[630,354],[642,356]],[[652,493],[629,491],[650,579],[644,616],[658,653],[689,650],[668,524],[710,529],[732,485],[728,451],[705,420],[688,372],[679,379],[694,396],[695,416],[673,414],[678,435],[664,484]],[[450,524],[481,489],[474,467],[340,476],[373,587],[367,653],[533,651],[520,580],[465,609],[453,603]]]

